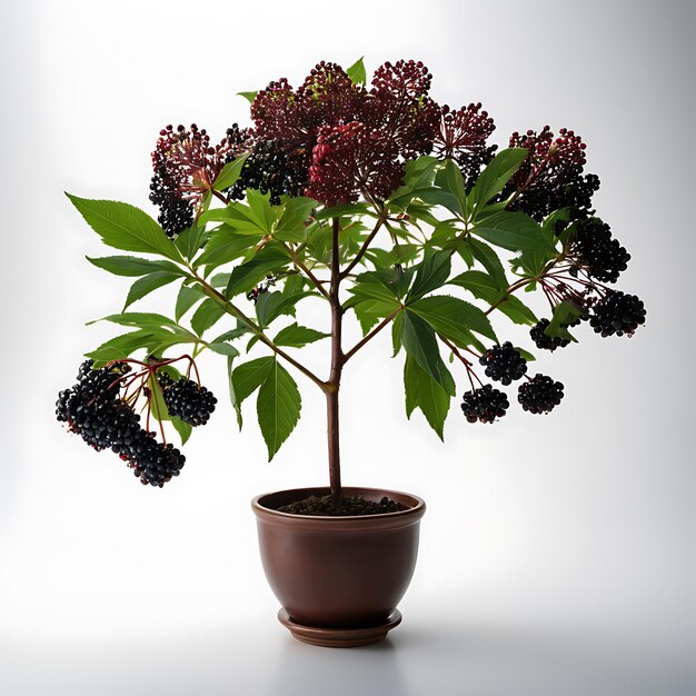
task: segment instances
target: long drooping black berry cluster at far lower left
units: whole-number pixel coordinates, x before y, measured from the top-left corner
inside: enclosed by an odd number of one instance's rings
[[[163,486],[179,475],[186,458],[146,431],[140,416],[120,398],[119,381],[129,371],[128,365],[92,366],[92,360],[84,361],[77,384],[59,392],[56,417],[97,451],[110,448],[118,454],[142,484]]]

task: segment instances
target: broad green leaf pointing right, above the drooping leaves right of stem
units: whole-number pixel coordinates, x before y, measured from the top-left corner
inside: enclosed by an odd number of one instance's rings
[[[461,346],[470,346],[470,332],[498,341],[488,317],[475,305],[449,295],[434,295],[409,306],[438,334]]]

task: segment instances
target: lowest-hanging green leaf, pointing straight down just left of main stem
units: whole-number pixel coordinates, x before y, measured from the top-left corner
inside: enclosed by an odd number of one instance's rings
[[[295,429],[302,400],[290,374],[271,358],[272,362],[256,401],[261,434],[268,447],[270,461],[282,443]]]

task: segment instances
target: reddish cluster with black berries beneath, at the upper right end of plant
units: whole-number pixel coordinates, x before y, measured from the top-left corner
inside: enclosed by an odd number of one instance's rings
[[[515,195],[511,210],[521,210],[543,220],[558,208],[588,209],[591,196],[599,188],[594,175],[583,177],[586,162],[583,139],[573,130],[561,128],[554,137],[545,126],[539,133],[528,130],[510,136],[510,147],[526,148],[529,155],[504,191],[504,198]]]

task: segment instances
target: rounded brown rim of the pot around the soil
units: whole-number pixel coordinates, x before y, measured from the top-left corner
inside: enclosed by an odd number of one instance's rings
[[[300,524],[307,526],[316,526],[318,525],[330,525],[335,527],[345,527],[350,526],[354,527],[356,525],[375,525],[379,521],[385,523],[385,526],[401,526],[401,524],[412,524],[418,521],[426,511],[426,503],[419,496],[415,496],[410,493],[404,493],[400,490],[391,490],[387,488],[367,488],[364,486],[344,486],[344,491],[349,493],[350,495],[361,495],[365,493],[376,493],[381,496],[397,496],[410,498],[416,501],[416,505],[409,507],[406,510],[397,510],[396,513],[378,513],[376,515],[298,515],[296,513],[280,513],[279,510],[275,510],[270,507],[266,507],[261,504],[261,499],[267,498],[268,496],[276,496],[280,494],[299,494],[301,495],[312,495],[317,493],[321,493],[326,495],[330,493],[330,488],[328,486],[306,486],[302,488],[288,488],[284,490],[274,490],[270,493],[265,493],[259,496],[256,496],[251,500],[251,509],[255,515],[259,519],[264,519],[264,521],[276,521],[278,524]],[[379,525],[378,526],[382,526]]]

